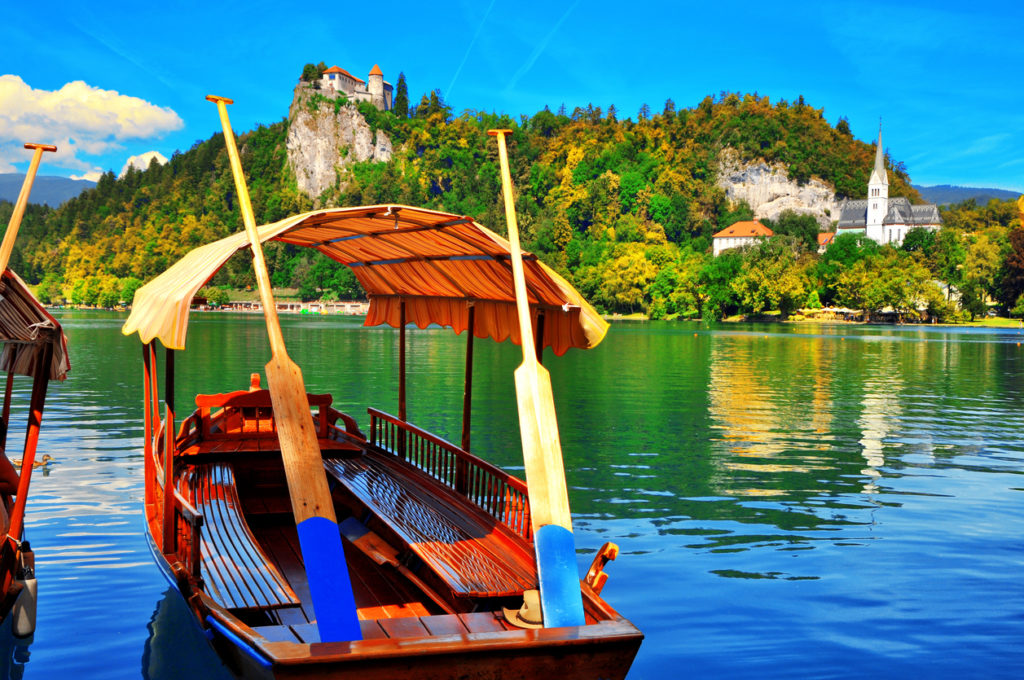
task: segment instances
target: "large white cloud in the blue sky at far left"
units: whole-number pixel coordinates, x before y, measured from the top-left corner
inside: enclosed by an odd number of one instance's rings
[[[159,137],[183,126],[167,107],[80,80],[51,91],[34,89],[18,76],[0,76],[0,168],[28,160],[24,142],[38,141],[56,144],[50,163],[89,177],[102,169],[80,156],[105,154],[126,140]]]

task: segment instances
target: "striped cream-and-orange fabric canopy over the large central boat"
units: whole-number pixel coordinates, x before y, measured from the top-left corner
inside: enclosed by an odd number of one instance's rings
[[[350,267],[370,298],[366,326],[397,328],[404,303],[407,323],[462,333],[472,306],[474,336],[519,344],[509,243],[471,217],[379,205],[316,210],[257,230],[261,242],[315,248]],[[193,297],[248,247],[240,231],[186,254],[138,289],[122,332],[184,349]],[[601,342],[607,323],[568,282],[529,253],[523,265],[530,309],[544,314],[543,347],[561,355]]]

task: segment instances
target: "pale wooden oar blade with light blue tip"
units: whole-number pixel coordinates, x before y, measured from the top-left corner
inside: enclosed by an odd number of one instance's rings
[[[515,384],[544,625],[584,626],[551,376],[537,362],[523,363],[515,371]]]

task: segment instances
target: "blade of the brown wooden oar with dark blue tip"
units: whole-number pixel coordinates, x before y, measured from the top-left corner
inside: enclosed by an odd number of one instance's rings
[[[359,640],[359,620],[331,490],[299,367],[275,353],[266,365],[285,476],[321,641]]]

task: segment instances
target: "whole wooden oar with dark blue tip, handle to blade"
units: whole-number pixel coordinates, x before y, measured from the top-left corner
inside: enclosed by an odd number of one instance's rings
[[[256,231],[252,205],[249,203],[249,190],[242,174],[239,150],[234,145],[234,133],[227,119],[226,104],[232,101],[214,95],[206,98],[216,103],[220,113],[224,143],[234,175],[234,188],[239,195],[239,207],[246,233],[252,244],[253,266],[272,354],[265,367],[266,379],[321,641],[359,640],[362,635],[355,611],[355,598],[345,564],[345,551],[341,545],[341,533],[334,514],[327,473],[324,471],[324,459],[312,427],[306,387],[302,381],[302,372],[285,350],[278,308],[270,292],[270,277],[263,260],[263,249]]]

